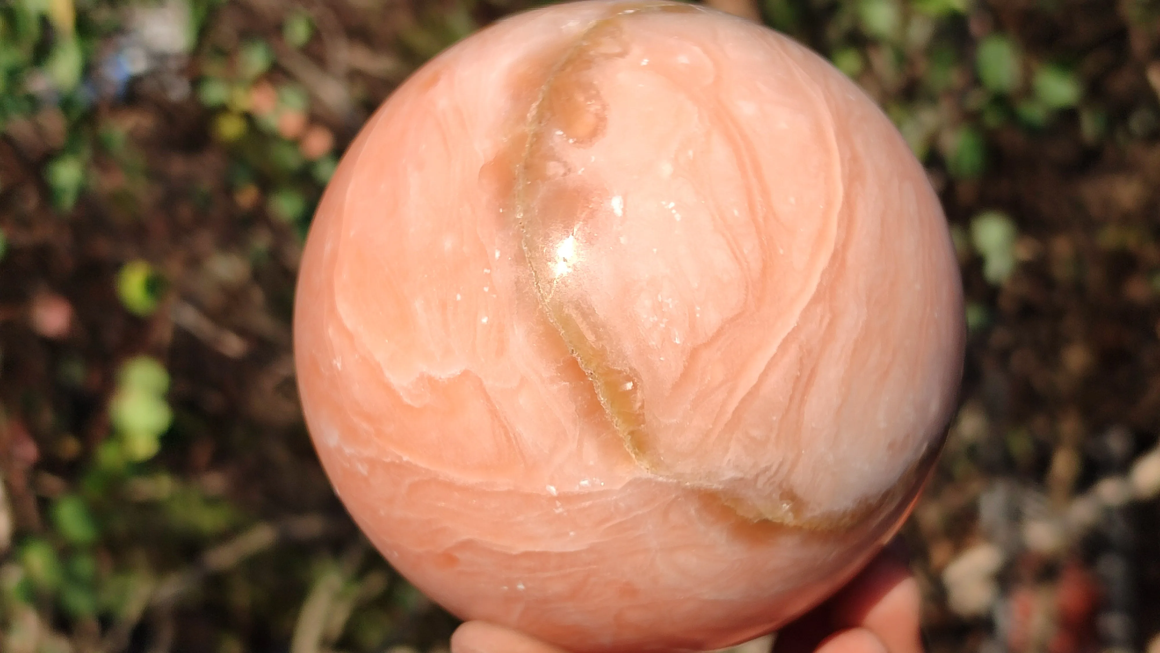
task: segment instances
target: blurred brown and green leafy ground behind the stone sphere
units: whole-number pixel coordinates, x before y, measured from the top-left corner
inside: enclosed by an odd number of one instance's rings
[[[713,5],[855,79],[947,208],[930,650],[1160,653],[1160,1]],[[445,651],[314,458],[293,281],[369,113],[528,6],[0,1],[0,651]]]

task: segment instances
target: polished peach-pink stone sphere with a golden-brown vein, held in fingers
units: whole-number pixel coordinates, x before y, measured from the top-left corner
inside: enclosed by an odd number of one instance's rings
[[[834,592],[913,505],[964,339],[884,115],[665,1],[531,12],[418,71],[326,191],[295,327],[387,560],[573,651],[725,646]]]

